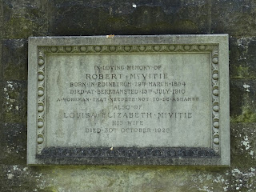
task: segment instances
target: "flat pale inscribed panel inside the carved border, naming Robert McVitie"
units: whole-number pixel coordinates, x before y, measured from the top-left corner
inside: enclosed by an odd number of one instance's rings
[[[209,56],[49,55],[46,146],[210,147]]]

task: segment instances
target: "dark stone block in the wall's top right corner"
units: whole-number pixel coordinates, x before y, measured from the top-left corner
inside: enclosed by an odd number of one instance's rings
[[[254,1],[211,1],[210,30],[214,34],[228,33],[230,36],[254,36],[256,23]]]

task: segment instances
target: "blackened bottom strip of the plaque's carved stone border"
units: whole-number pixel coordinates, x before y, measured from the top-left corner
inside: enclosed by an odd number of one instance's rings
[[[74,148],[49,147],[42,150],[38,158],[213,158],[218,156],[210,148],[166,148],[166,147],[115,147]]]

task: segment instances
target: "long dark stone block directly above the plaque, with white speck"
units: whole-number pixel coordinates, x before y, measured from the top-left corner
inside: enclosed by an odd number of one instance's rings
[[[210,33],[208,1],[108,1],[104,4],[106,6],[102,6],[101,1],[50,1],[49,34]]]

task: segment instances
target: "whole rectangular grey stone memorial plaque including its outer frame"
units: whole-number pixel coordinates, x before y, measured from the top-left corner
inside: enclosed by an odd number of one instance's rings
[[[29,39],[27,163],[230,165],[228,36]]]

